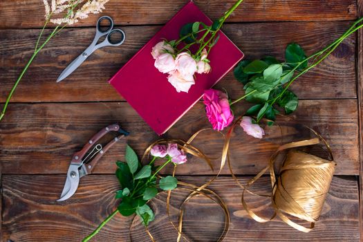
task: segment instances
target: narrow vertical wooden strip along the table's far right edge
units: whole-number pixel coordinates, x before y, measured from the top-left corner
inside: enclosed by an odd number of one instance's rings
[[[358,17],[363,17],[363,1],[357,0]],[[360,144],[360,241],[363,242],[363,30],[357,32],[357,95]]]

